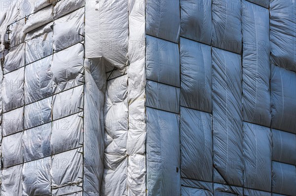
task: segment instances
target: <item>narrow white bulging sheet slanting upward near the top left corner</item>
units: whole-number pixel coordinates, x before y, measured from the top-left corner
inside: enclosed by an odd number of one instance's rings
[[[37,11],[29,16],[26,25],[24,26],[23,32],[29,33],[42,25],[53,21],[52,14],[53,6],[47,6],[42,10]]]

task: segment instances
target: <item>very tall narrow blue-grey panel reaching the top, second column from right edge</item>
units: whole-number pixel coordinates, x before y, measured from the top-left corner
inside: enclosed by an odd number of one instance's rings
[[[244,120],[270,127],[269,11],[248,1],[242,10]],[[254,31],[256,30],[256,31]]]

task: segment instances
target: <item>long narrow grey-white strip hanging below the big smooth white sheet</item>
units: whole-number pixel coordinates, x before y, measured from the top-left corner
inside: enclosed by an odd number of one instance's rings
[[[84,169],[83,191],[85,195],[100,194],[100,186],[104,172],[104,89],[106,83],[97,84],[94,78],[106,81],[105,67],[98,60],[87,59],[84,86]],[[97,71],[92,71],[97,70]]]

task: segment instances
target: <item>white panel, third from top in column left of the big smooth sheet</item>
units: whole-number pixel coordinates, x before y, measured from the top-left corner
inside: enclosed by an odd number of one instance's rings
[[[81,43],[53,55],[51,71],[54,93],[83,84],[83,55]]]

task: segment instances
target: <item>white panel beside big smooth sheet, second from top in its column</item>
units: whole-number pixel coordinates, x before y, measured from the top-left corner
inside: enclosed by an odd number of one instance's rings
[[[84,39],[84,8],[54,21],[53,49],[60,51]]]

